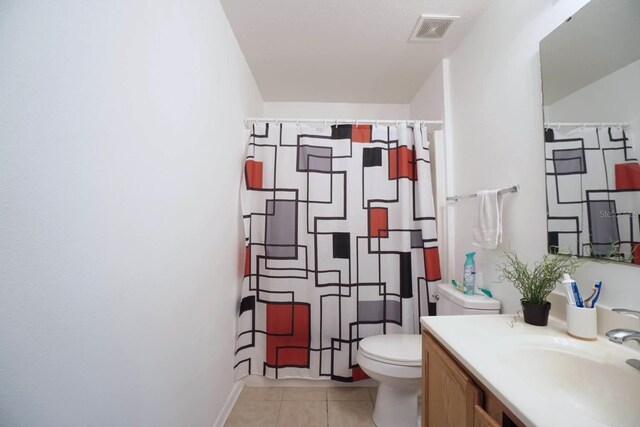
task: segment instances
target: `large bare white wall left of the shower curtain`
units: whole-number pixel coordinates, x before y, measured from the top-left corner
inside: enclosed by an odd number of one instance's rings
[[[262,108],[219,3],[3,1],[0,64],[0,425],[210,427]]]

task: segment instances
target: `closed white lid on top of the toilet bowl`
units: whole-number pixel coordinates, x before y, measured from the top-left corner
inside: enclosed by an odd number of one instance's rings
[[[375,335],[360,340],[360,351],[382,362],[419,366],[422,363],[422,337],[416,334]]]

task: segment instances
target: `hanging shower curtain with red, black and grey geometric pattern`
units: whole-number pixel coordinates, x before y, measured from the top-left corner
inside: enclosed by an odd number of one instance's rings
[[[419,124],[255,124],[242,183],[236,376],[366,378],[358,341],[417,334],[440,281]]]

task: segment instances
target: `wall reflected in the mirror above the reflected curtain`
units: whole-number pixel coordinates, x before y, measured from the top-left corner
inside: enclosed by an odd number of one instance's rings
[[[636,152],[640,129],[640,60],[546,106],[548,122],[629,122]]]

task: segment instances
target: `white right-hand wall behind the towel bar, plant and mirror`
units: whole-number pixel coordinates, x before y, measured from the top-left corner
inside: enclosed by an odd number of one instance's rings
[[[519,183],[521,193],[505,197],[504,243],[530,262],[546,251],[539,42],[586,2],[494,0],[450,58],[447,120],[453,150],[447,155],[453,155],[453,192]],[[460,201],[453,211],[454,271],[459,278],[464,253],[472,249],[475,203]],[[505,311],[514,312],[519,296],[510,285],[498,283],[499,262],[496,251],[480,252],[478,271],[484,272]],[[591,262],[576,278],[585,288],[603,280],[604,305],[640,308],[639,273],[635,266]]]

